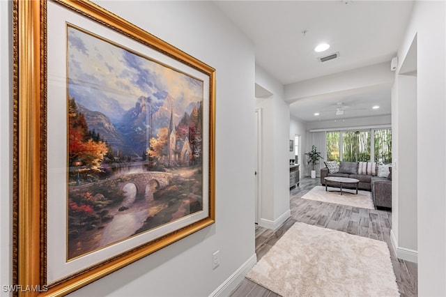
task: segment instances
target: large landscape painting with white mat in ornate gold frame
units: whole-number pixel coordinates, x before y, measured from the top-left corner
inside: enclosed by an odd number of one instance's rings
[[[215,222],[215,69],[89,1],[14,1],[15,293]]]

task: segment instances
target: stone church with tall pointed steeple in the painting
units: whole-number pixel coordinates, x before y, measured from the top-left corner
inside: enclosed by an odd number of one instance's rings
[[[174,108],[171,107],[169,134],[167,137],[167,162],[169,165],[189,165],[192,150],[189,139],[176,139]]]

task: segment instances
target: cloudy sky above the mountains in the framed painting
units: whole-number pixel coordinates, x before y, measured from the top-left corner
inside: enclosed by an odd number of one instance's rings
[[[156,103],[169,93],[183,107],[203,97],[201,81],[71,26],[68,82],[70,96],[83,105],[91,100],[100,102],[99,105],[116,100],[125,110],[134,107],[139,96],[150,96]]]

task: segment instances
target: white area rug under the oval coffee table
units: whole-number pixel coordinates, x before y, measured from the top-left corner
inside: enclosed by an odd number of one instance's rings
[[[343,204],[348,206],[355,206],[360,208],[375,209],[374,201],[371,199],[371,192],[358,190],[342,189],[342,195],[339,188],[328,187],[325,191],[324,185],[316,185],[316,187],[309,190],[307,194],[302,196],[302,199],[310,199],[322,202],[330,202],[335,204]]]

